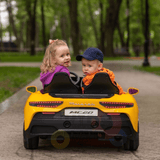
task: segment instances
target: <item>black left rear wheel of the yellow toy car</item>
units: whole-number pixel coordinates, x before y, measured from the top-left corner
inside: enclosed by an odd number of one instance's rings
[[[27,138],[23,128],[23,143],[26,149],[37,149],[39,137]]]

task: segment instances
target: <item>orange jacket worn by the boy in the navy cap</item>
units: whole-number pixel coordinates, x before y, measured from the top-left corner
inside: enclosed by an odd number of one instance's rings
[[[96,73],[99,73],[99,72],[105,72],[105,73],[108,73],[111,81],[113,84],[115,84],[118,89],[119,89],[119,94],[124,94],[125,92],[123,91],[122,87],[118,84],[118,83],[115,83],[114,79],[115,79],[115,75],[112,71],[110,71],[109,69],[106,69],[106,68],[102,68],[100,71],[97,71],[97,72],[94,72],[92,74],[89,74],[87,75],[86,77],[83,78],[83,84],[85,86],[88,86],[91,82],[92,82],[92,79],[94,78],[95,74]],[[82,93],[84,93],[84,87],[82,87]]]

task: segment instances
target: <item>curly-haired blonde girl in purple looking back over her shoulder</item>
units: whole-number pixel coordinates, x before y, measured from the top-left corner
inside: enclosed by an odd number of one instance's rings
[[[71,56],[67,44],[62,40],[49,40],[49,43],[40,67],[43,88],[52,81],[57,72],[66,72],[70,75],[67,67],[71,66]]]

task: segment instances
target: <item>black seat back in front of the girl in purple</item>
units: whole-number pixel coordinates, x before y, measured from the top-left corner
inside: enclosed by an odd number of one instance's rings
[[[50,84],[44,86],[44,93],[79,93],[80,89],[78,86],[74,85],[65,72],[55,73]]]

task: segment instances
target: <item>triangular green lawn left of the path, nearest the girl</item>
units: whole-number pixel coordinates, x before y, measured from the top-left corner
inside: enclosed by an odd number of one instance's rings
[[[39,74],[39,68],[0,67],[0,102],[33,81]]]

